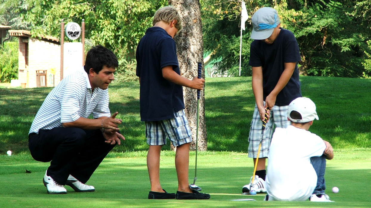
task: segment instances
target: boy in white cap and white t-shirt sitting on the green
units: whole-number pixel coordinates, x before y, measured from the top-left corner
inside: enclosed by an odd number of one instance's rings
[[[286,129],[276,128],[268,154],[266,201],[331,202],[325,194],[326,159],[334,158],[328,141],[308,131],[318,120],[309,98],[296,98],[288,106]]]

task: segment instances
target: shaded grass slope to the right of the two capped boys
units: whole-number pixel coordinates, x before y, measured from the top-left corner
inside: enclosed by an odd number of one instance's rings
[[[301,77],[302,95],[316,103],[310,131],[334,147],[371,147],[371,80]]]

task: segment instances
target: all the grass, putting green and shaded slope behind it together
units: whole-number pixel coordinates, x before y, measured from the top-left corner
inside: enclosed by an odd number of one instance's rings
[[[197,182],[210,200],[147,200],[150,188],[146,167],[144,123],[139,117],[139,83],[112,83],[110,109],[123,119],[126,140],[108,154],[88,184],[95,192],[48,195],[42,177],[49,163],[33,160],[27,134],[37,110],[52,88],[7,88],[0,85],[0,208],[2,207],[272,207],[368,208],[371,197],[371,81],[352,78],[301,76],[302,94],[317,105],[320,120],[313,133],[331,142],[334,160],[326,169],[326,192],[335,203],[263,202],[263,196],[240,195],[252,175],[247,158],[247,137],[255,99],[251,77],[207,78],[205,113],[208,151],[198,152]],[[11,149],[13,156],[6,156]],[[163,147],[164,150],[170,146]],[[194,152],[190,158],[190,181]],[[32,173],[26,173],[26,170]],[[161,153],[161,182],[167,191],[177,189],[174,153]],[[331,193],[337,186],[338,194]],[[257,201],[231,201],[254,198]]]

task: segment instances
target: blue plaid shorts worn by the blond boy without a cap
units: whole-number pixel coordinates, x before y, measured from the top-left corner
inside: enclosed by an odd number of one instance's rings
[[[176,147],[192,141],[192,132],[184,109],[174,113],[174,116],[173,119],[145,122],[147,144],[164,145],[168,138]]]

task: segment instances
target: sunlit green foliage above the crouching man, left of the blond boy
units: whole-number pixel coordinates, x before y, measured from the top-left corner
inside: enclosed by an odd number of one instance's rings
[[[5,1],[3,6],[27,8],[20,17],[29,24],[34,36],[60,37],[62,19],[65,24],[80,25],[84,19],[85,49],[98,44],[111,49],[119,59],[118,72],[126,73],[124,76],[130,79],[135,79],[132,59],[136,46],[145,30],[152,26],[155,11],[167,5],[165,0],[23,0],[20,6],[10,2],[14,0]],[[69,40],[65,38],[65,41]]]

